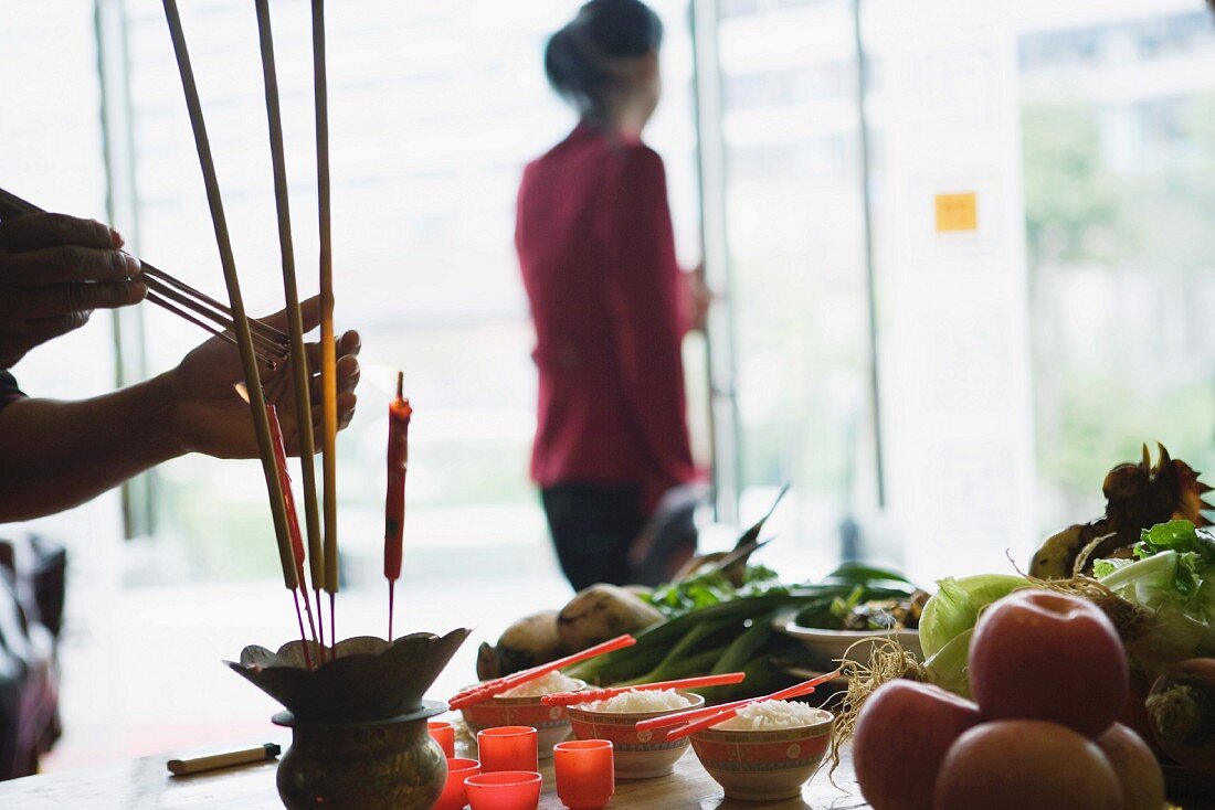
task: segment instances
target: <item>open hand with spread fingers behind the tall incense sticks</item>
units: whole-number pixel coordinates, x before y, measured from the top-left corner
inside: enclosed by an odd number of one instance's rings
[[[318,299],[309,299],[300,306],[304,330],[309,332],[320,322]],[[261,319],[283,332],[287,330],[287,312],[278,312]],[[338,427],[344,429],[355,414],[355,386],[358,384],[357,332],[347,332],[338,340]],[[312,376],[312,431],[316,446],[321,447],[321,345],[307,344],[307,367]],[[295,417],[295,387],[292,380],[290,361],[278,363],[273,370],[259,362],[261,386],[266,391],[266,403],[278,409],[287,452],[299,454],[299,424]],[[249,404],[237,392],[237,384],[244,381],[241,355],[237,347],[220,338],[211,338],[192,352],[176,369],[169,373],[171,386],[171,420],[182,452],[198,452],[217,458],[256,458],[258,440],[253,432]]]

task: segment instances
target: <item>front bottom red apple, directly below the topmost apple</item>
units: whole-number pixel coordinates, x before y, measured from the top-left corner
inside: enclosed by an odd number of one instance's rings
[[[937,776],[933,810],[1125,810],[1114,769],[1086,737],[1041,720],[965,732]]]

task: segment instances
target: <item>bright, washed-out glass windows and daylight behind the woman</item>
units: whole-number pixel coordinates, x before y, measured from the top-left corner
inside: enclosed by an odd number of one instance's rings
[[[282,291],[253,7],[182,5],[247,298],[269,312]],[[312,278],[307,4],[272,5]],[[1143,441],[1215,468],[1215,30],[1200,0],[864,0],[859,32],[849,0],[696,0],[695,18],[689,0],[654,5],[666,97],[649,140],[680,257],[700,260],[703,216],[728,291],[712,362],[688,345],[695,443],[706,463],[716,443],[727,523],[793,482],[764,561],[819,576],[849,538],[923,582],[1001,570],[1006,549],[1024,562],[1052,527],[1100,514],[1106,470]],[[364,346],[339,443],[343,635],[383,633],[399,368],[417,409],[403,623],[469,623],[480,641],[566,595],[526,478],[535,373],[512,234],[522,164],[572,124],[541,51],[576,7],[329,4],[338,325]],[[160,4],[10,0],[0,53],[0,186],[108,219],[220,291]],[[949,193],[977,194],[976,231],[937,232]],[[18,378],[94,395],[200,340],[151,306],[120,327],[95,317]],[[272,704],[217,663],[290,635],[256,464],[180,459],[125,502],[28,528],[72,553],[51,767],[265,732]],[[471,678],[473,647],[452,682]]]

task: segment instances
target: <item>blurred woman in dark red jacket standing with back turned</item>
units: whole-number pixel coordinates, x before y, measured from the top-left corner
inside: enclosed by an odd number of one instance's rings
[[[661,41],[638,0],[590,0],[553,35],[544,70],[581,120],[519,189],[539,368],[531,471],[576,589],[628,582],[631,543],[696,475],[680,342],[707,296],[676,262],[662,159],[642,142]]]

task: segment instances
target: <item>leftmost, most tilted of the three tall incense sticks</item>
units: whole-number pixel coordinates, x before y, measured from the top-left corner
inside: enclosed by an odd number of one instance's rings
[[[164,16],[169,23],[173,38],[173,50],[177,60],[177,73],[181,77],[181,89],[186,96],[186,108],[190,112],[190,125],[194,134],[194,147],[198,163],[207,186],[207,204],[211,211],[215,226],[215,242],[220,251],[220,264],[224,267],[224,282],[227,285],[228,301],[232,306],[232,321],[236,327],[237,346],[241,352],[241,366],[244,369],[245,387],[249,393],[249,408],[253,415],[254,434],[258,437],[258,454],[261,458],[261,470],[266,478],[266,491],[270,494],[270,511],[275,523],[275,536],[278,540],[278,559],[283,568],[283,582],[292,591],[299,585],[295,565],[292,556],[290,537],[287,529],[287,506],[283,489],[275,465],[273,447],[270,438],[270,421],[266,417],[266,402],[261,390],[261,375],[258,372],[258,358],[253,349],[253,335],[249,330],[249,318],[244,311],[244,299],[241,295],[241,279],[236,274],[236,259],[232,255],[232,240],[228,237],[227,221],[224,216],[224,200],[220,197],[219,177],[211,157],[210,141],[207,137],[207,123],[203,120],[203,107],[194,84],[194,72],[190,64],[190,52],[186,47],[186,35],[181,27],[176,0],[163,0]]]

